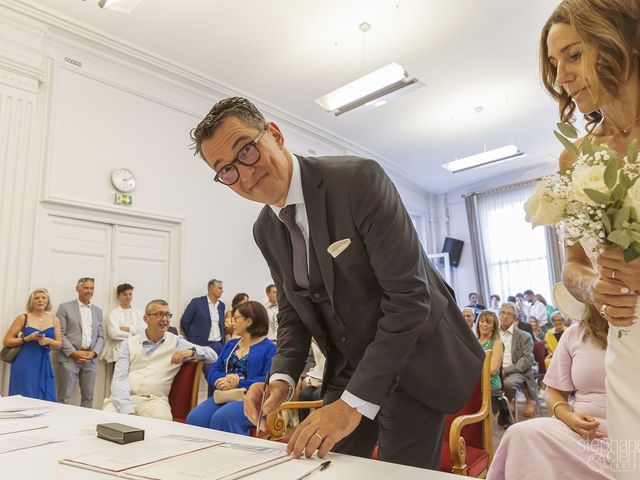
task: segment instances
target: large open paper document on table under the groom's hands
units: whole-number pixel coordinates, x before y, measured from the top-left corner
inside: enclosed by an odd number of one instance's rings
[[[290,459],[280,448],[171,435],[60,463],[138,480],[233,480]]]

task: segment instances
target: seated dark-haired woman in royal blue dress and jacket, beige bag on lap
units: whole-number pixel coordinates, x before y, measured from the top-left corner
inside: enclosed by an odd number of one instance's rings
[[[209,371],[209,385],[218,391],[249,388],[255,382],[264,382],[276,353],[275,344],[266,337],[269,316],[264,305],[254,301],[243,303],[234,312],[233,320],[234,333],[240,338],[224,344],[217,362]],[[213,397],[191,410],[187,423],[250,435],[253,423],[244,416],[244,402],[218,404],[215,402],[215,390]]]

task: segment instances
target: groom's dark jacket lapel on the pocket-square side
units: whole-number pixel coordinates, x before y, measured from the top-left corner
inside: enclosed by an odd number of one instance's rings
[[[320,273],[329,298],[333,302],[333,263],[327,252],[329,229],[327,226],[327,192],[322,177],[309,165],[305,158],[300,159],[302,192],[309,219],[309,237],[313,240],[313,249],[318,260]],[[311,242],[310,242],[311,243]]]

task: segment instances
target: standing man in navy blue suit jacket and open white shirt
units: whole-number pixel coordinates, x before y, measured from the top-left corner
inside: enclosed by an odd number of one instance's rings
[[[207,294],[195,297],[182,314],[180,327],[191,343],[211,347],[217,354],[224,343],[224,303],[220,301],[223,286],[221,280],[209,280]],[[208,378],[211,364],[205,364],[202,373]],[[209,396],[213,395],[209,387]]]

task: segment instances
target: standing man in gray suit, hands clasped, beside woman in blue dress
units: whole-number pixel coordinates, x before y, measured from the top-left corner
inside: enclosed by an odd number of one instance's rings
[[[91,303],[94,286],[93,278],[78,280],[78,299],[62,303],[56,313],[62,333],[62,348],[56,352],[58,401],[69,403],[79,379],[80,405],[88,408],[93,405],[98,355],[104,345],[102,310]]]

